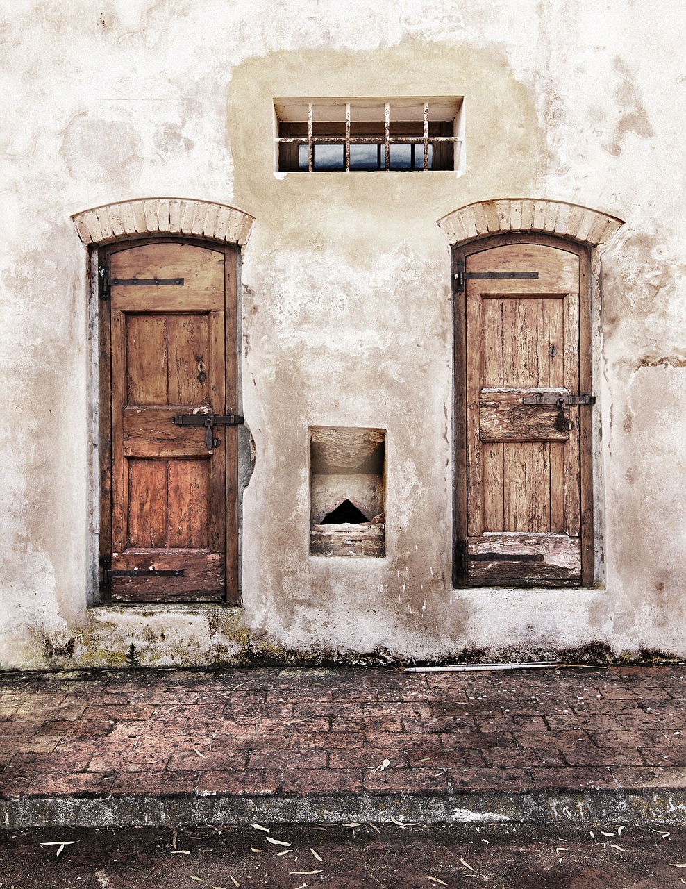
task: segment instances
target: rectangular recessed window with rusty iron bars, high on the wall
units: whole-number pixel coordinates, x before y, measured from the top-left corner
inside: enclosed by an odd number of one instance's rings
[[[275,99],[279,172],[459,170],[462,100]]]

